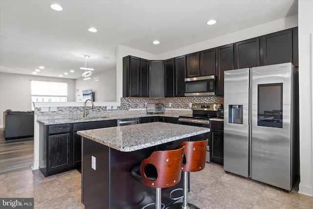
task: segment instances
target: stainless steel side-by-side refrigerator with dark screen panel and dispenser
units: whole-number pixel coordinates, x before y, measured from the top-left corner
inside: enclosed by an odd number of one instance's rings
[[[224,71],[224,170],[291,190],[299,173],[298,72]]]

